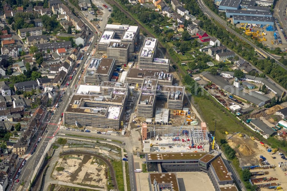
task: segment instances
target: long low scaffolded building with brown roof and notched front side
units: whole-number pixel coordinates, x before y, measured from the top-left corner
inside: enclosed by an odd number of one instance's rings
[[[170,73],[160,72],[159,70],[130,68],[125,82],[132,85],[141,85],[145,78],[158,79],[158,85],[172,85],[173,81],[173,75]]]

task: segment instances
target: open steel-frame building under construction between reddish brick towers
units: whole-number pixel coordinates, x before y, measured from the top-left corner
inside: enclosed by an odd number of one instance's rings
[[[206,124],[201,126],[150,126],[146,128],[146,138],[143,139],[144,152],[209,152],[212,137],[206,129]],[[145,135],[144,135],[145,136]]]

